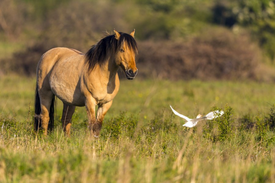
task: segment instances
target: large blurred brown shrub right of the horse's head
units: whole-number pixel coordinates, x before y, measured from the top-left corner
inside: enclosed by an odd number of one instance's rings
[[[228,29],[207,30],[187,42],[147,41],[139,44],[139,74],[155,71],[167,79],[255,79],[259,48],[248,35]]]

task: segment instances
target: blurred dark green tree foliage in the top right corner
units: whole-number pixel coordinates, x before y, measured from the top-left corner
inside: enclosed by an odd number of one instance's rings
[[[253,33],[254,39],[275,59],[275,1],[234,0],[216,1],[214,23],[228,27],[241,26]]]

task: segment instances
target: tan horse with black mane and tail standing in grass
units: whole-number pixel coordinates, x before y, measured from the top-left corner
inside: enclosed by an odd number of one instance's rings
[[[56,97],[63,102],[61,117],[64,134],[70,135],[75,106],[85,106],[90,134],[98,137],[105,114],[119,90],[117,71],[127,79],[137,75],[138,47],[130,34],[108,34],[86,54],[72,48],[53,48],[45,52],[36,70],[34,127],[44,135],[53,131]],[[95,106],[98,105],[95,116]]]

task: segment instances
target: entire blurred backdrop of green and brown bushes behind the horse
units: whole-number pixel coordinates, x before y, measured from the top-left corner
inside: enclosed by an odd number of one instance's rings
[[[51,48],[86,52],[105,30],[135,28],[143,76],[153,63],[158,76],[170,79],[266,77],[256,70],[274,60],[274,11],[271,0],[2,0],[0,73],[33,75]],[[184,68],[172,75],[171,67]],[[209,69],[215,72],[208,77]]]

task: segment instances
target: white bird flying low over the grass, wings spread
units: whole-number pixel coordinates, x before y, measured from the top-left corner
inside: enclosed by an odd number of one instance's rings
[[[170,107],[171,107],[171,106],[170,106]],[[182,125],[182,126],[184,126],[184,127],[189,127],[189,128],[196,126],[197,123],[198,123],[199,121],[201,121],[201,120],[204,120],[204,119],[206,119],[206,120],[212,120],[212,119],[214,119],[214,118],[216,118],[216,117],[222,116],[223,113],[224,113],[223,111],[218,111],[218,110],[216,110],[216,111],[214,111],[214,112],[208,113],[208,114],[205,115],[205,116],[202,116],[202,115],[199,114],[199,115],[196,117],[196,119],[190,119],[190,118],[188,118],[188,117],[186,117],[186,116],[184,116],[184,115],[178,113],[178,112],[175,111],[172,107],[171,107],[171,109],[172,109],[172,111],[174,112],[175,115],[177,115],[177,116],[179,116],[179,117],[182,117],[182,118],[184,118],[185,120],[187,120],[187,123],[185,123],[185,124]]]

